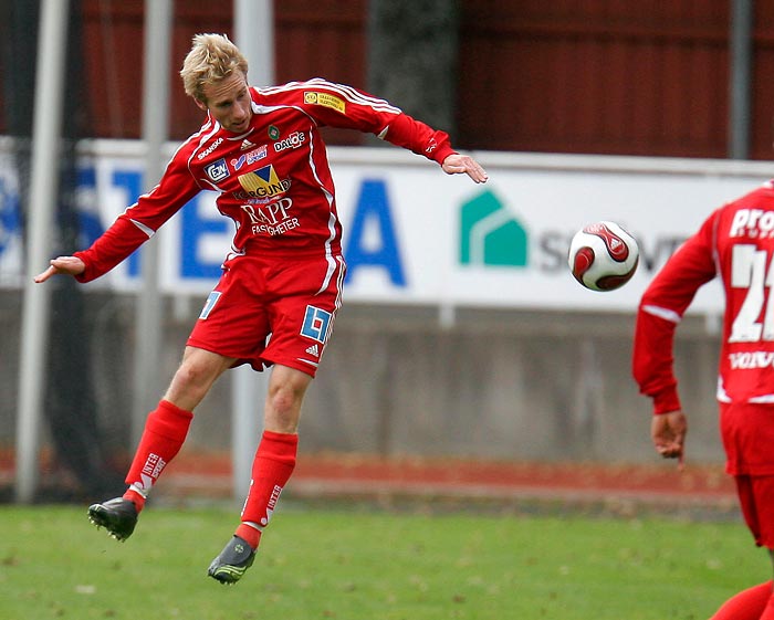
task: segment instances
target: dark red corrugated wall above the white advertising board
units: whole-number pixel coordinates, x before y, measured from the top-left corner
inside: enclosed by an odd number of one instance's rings
[[[751,149],[770,159],[774,3],[755,4]],[[139,136],[143,6],[83,0],[93,136]],[[730,0],[460,0],[460,8],[457,146],[726,156]],[[276,81],[323,76],[364,87],[366,12],[367,0],[275,2]],[[177,71],[202,31],[231,34],[230,0],[175,3],[175,139],[201,122]]]

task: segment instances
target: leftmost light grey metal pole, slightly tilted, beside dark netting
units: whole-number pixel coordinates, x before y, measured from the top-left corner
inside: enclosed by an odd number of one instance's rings
[[[50,287],[32,276],[45,269],[51,251],[51,229],[59,190],[59,151],[62,128],[64,60],[67,46],[69,0],[44,0],[38,35],[30,219],[28,222],[28,277],[24,281],[22,347],[17,424],[18,502],[30,503],[38,487],[38,451],[41,407],[45,391]]]

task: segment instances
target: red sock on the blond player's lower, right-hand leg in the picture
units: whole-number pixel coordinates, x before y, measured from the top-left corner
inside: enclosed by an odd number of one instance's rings
[[[253,549],[258,547],[261,532],[269,525],[280,493],[293,473],[297,448],[297,434],[263,431],[252,463],[252,480],[242,509],[242,524],[236,533]]]

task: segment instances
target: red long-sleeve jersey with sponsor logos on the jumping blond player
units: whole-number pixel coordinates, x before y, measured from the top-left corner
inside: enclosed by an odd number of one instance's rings
[[[79,276],[106,273],[202,190],[234,222],[232,252],[283,258],[341,253],[334,183],[320,128],[372,133],[439,164],[454,153],[449,136],[388,102],[315,78],[250,88],[253,116],[242,134],[209,114],[175,153],[159,183],[139,197],[85,251]]]

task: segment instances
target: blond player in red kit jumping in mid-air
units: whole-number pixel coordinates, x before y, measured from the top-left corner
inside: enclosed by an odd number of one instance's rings
[[[296,459],[301,406],[342,301],[342,229],[320,128],[372,133],[438,162],[449,175],[485,182],[449,136],[388,102],[315,78],[255,88],[248,64],[219,34],[198,34],[180,71],[186,93],[207,114],[175,153],[159,183],[93,245],[51,261],[36,276],[70,274],[88,282],[113,269],[202,190],[219,192],[219,211],[236,232],[222,276],[210,293],[182,360],[148,414],[126,477],[128,488],[88,508],[117,539],[134,530],[148,492],[180,450],[192,411],[227,369],[271,366],[264,432],[252,466],[241,523],[208,574],[238,581],[254,559],[261,533]]]

